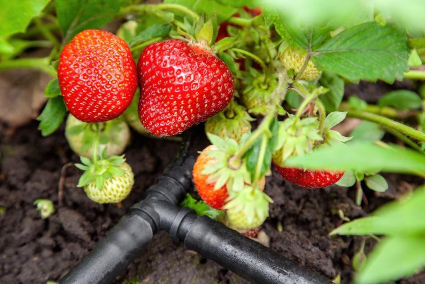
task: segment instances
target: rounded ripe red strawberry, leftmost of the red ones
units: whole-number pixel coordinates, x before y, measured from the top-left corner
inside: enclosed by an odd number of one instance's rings
[[[128,45],[106,31],[77,34],[60,54],[57,77],[66,107],[84,122],[118,117],[137,89]]]

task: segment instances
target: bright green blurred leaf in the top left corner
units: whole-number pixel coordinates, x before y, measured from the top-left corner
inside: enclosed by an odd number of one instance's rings
[[[25,32],[31,19],[38,16],[48,2],[49,0],[0,0],[0,45],[6,46],[4,40],[10,35]]]

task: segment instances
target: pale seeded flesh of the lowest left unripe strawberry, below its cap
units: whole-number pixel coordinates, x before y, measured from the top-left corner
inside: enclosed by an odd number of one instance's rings
[[[122,163],[118,168],[123,172],[106,179],[102,189],[98,189],[96,181],[84,185],[87,197],[97,203],[117,203],[125,199],[134,184],[134,174],[127,163]]]

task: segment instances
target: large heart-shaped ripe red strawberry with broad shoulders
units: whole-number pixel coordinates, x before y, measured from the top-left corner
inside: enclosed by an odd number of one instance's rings
[[[156,136],[176,135],[218,113],[234,82],[215,55],[197,45],[166,40],[149,45],[137,64],[140,121]]]

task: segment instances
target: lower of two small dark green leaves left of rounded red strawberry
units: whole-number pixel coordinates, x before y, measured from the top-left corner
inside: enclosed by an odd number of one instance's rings
[[[37,117],[40,121],[38,129],[41,130],[41,135],[47,136],[52,134],[59,128],[66,114],[66,107],[62,97],[54,97],[47,101],[43,111]]]

